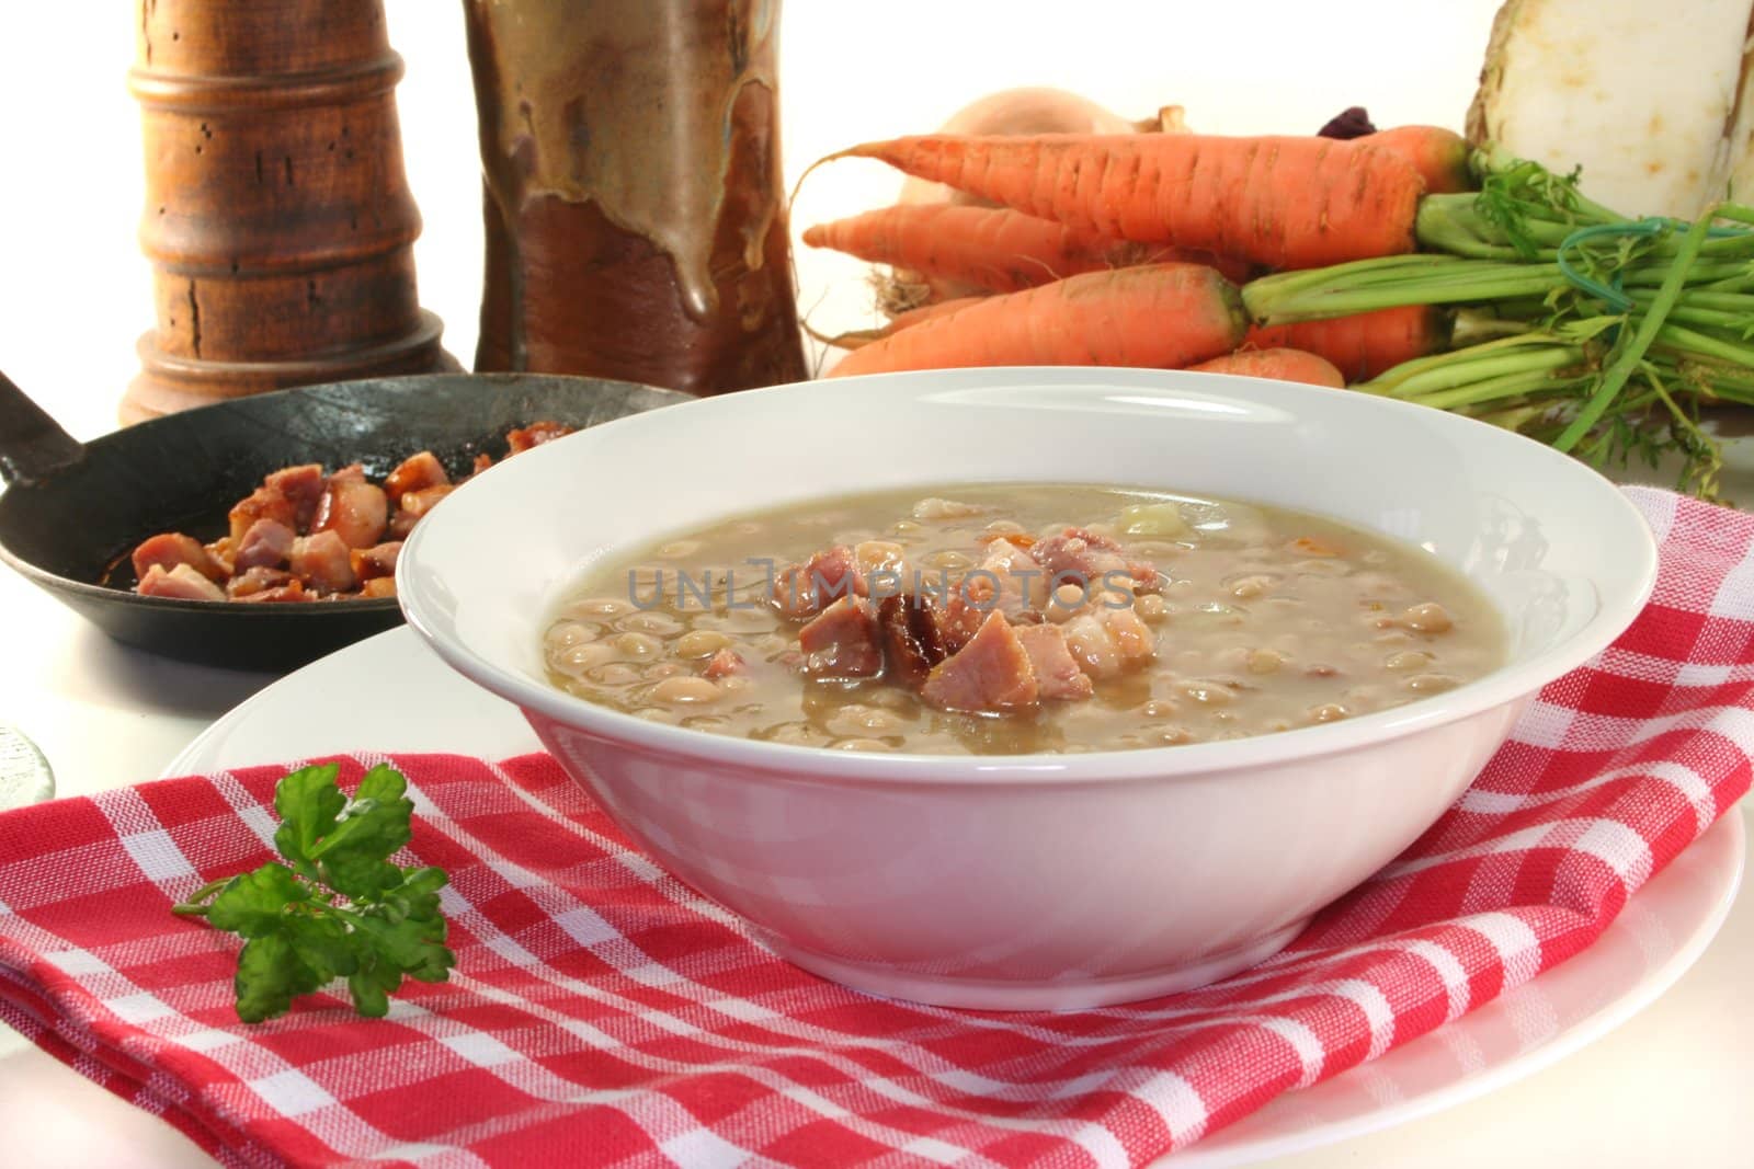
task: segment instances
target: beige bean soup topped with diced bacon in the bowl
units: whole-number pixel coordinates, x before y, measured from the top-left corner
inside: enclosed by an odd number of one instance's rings
[[[847,496],[605,557],[551,680],[642,719],[870,752],[1242,738],[1387,710],[1505,659],[1424,549],[1300,512],[1091,485]]]

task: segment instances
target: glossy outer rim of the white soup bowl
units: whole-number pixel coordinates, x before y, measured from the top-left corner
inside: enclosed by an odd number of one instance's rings
[[[995,375],[1012,375],[1042,384],[1047,379],[1065,379],[1066,382],[1089,384],[1091,380],[1130,382],[1117,389],[1170,389],[1165,382],[1145,380],[1140,375],[1173,375],[1179,379],[1207,380],[1214,387],[1228,393],[1247,391],[1286,394],[1308,387],[1287,386],[1265,379],[1238,377],[1228,373],[1193,373],[1187,370],[1131,370],[1110,366],[982,366],[977,370],[919,370],[903,373],[872,373],[847,379],[835,379],[844,391],[856,393],[859,384],[923,380],[935,389],[952,389],[958,382],[984,384]],[[823,389],[819,382],[788,382],[759,389],[738,391],[737,394],[703,398],[682,403],[670,410],[635,414],[595,426],[579,435],[568,436],[563,445],[586,440],[596,435],[596,442],[605,442],[603,435],[614,436],[616,428],[652,426],[654,417],[707,414],[710,410],[735,408],[735,401],[749,401],[758,396],[786,393],[809,393]],[[895,389],[884,393],[893,394]],[[1324,391],[1333,393],[1333,391]],[[1579,484],[1596,492],[1603,508],[1619,512],[1619,521],[1640,540],[1635,547],[1621,554],[1633,571],[1633,585],[1617,592],[1596,585],[1598,608],[1586,624],[1561,645],[1537,654],[1529,661],[1505,662],[1489,673],[1458,685],[1452,691],[1414,699],[1401,706],[1379,710],[1356,719],[1328,722],[1289,731],[1251,734],[1237,740],[1180,743],[1163,747],[1128,747],[1110,750],[1091,750],[1075,754],[1021,754],[1021,755],[937,755],[923,752],[842,752],[826,747],[805,747],[795,743],[774,743],[733,734],[716,734],[712,731],[695,731],[681,726],[651,722],[630,713],[591,703],[589,699],[568,694],[554,685],[526,677],[523,671],[509,670],[477,654],[444,634],[430,620],[424,606],[426,592],[416,584],[414,570],[421,564],[424,543],[437,528],[417,526],[403,543],[396,563],[396,599],[402,605],[409,627],[424,640],[442,661],[453,670],[475,682],[491,694],[514,703],[528,719],[531,712],[553,722],[582,729],[596,738],[614,741],[658,755],[679,755],[688,759],[705,759],[717,766],[735,766],[763,773],[786,775],[793,780],[817,783],[859,783],[859,785],[938,785],[956,783],[1091,783],[1091,782],[1140,782],[1166,780],[1173,776],[1214,775],[1242,769],[1259,769],[1277,764],[1317,759],[1323,755],[1344,754],[1408,734],[1435,729],[1451,722],[1459,722],[1535,698],[1547,684],[1572,673],[1619,638],[1643,610],[1658,577],[1656,535],[1633,501],[1608,478],[1584,463],[1565,456],[1551,447],[1522,435],[1505,431],[1498,426],[1468,419],[1458,414],[1433,410],[1415,403],[1396,401],[1359,394],[1359,401],[1370,403],[1363,408],[1379,408],[1387,414],[1417,414],[1433,426],[1451,428],[1458,433],[1472,431],[1486,443],[1522,443],[1538,450],[1537,457],[1551,459],[1551,468],[1558,475],[1572,477]],[[1284,405],[1284,403],[1275,403]],[[670,424],[675,424],[672,419]],[[589,440],[586,440],[589,442]],[[921,484],[930,485],[930,484]],[[467,487],[465,487],[467,491]],[[1319,508],[1312,508],[1317,515]],[[435,512],[442,515],[444,512]],[[423,538],[426,536],[426,538]]]

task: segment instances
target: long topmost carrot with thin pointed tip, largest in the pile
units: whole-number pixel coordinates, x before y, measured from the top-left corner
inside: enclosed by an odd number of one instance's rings
[[[1075,231],[1273,268],[1410,252],[1424,193],[1400,154],[1314,137],[926,135],[830,158],[875,158]]]

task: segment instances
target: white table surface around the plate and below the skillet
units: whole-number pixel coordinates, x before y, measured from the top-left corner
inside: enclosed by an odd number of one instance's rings
[[[0,568],[0,720],[33,738],[58,794],[153,778],[217,715],[272,677],[203,670],[116,645]],[[1729,815],[1749,815],[1747,804]],[[1738,897],[1700,962],[1642,1013],[1580,1053],[1447,1111],[1280,1169],[1344,1165],[1754,1164],[1742,1116],[1754,1085],[1754,896]],[[16,1169],[170,1169],[212,1164],[0,1025],[0,1164]]]

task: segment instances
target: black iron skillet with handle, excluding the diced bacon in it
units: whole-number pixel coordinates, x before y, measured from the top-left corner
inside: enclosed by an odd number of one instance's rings
[[[310,605],[175,601],[132,592],[133,545],[225,533],[226,512],[295,463],[384,473],[431,450],[453,475],[540,419],[595,426],[688,401],[631,382],[431,373],[307,386],[140,422],[81,445],[0,373],[0,559],[118,641],[235,670],[289,670],[402,620],[393,598]],[[114,582],[114,584],[107,584]]]

